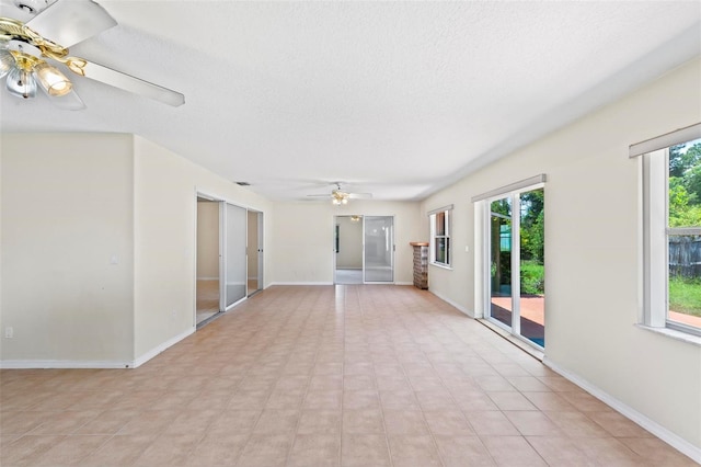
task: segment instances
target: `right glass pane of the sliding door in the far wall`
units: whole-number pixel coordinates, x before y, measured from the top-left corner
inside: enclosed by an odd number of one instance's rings
[[[392,217],[365,217],[365,282],[394,281],[392,220]]]

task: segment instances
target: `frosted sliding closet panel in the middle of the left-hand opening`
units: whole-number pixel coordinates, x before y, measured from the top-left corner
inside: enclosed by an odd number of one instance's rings
[[[227,307],[245,297],[248,265],[245,260],[246,210],[227,204],[226,297]]]

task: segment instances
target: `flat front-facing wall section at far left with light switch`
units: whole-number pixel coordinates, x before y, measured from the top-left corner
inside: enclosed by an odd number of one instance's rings
[[[1,149],[3,365],[126,365],[131,137],[3,134]]]

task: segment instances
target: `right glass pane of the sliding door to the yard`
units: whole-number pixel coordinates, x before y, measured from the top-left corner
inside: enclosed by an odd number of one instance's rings
[[[545,346],[544,192],[520,194],[520,329]]]

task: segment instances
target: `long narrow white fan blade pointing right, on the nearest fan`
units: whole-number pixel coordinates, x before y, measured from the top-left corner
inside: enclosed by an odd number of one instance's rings
[[[154,99],[174,107],[185,103],[185,96],[180,92],[153,84],[152,82],[145,81],[140,78],[113,70],[112,68],[107,68],[82,58],[69,57],[66,65],[77,75],[104,82],[105,84],[110,84],[115,88],[124,89],[125,91],[134,92],[135,94]]]

